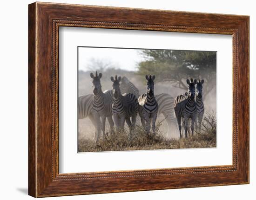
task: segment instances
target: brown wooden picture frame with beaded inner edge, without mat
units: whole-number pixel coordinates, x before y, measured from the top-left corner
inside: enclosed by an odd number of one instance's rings
[[[38,2],[28,8],[29,195],[47,197],[249,183],[249,16]],[[59,174],[60,26],[232,35],[233,164]]]

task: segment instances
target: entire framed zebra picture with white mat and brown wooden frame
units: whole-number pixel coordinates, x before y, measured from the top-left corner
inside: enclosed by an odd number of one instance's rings
[[[28,8],[29,195],[249,183],[249,16]]]

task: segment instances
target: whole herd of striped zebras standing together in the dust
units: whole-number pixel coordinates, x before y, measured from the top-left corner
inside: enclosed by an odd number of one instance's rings
[[[155,75],[146,75],[147,80],[146,93],[139,95],[139,90],[127,77],[110,77],[113,82],[112,90],[102,91],[101,77],[102,73],[90,73],[93,83],[93,94],[78,97],[78,118],[89,117],[94,125],[94,139],[99,141],[101,131],[105,138],[106,118],[110,125],[111,132],[114,131],[114,125],[118,130],[124,129],[127,123],[130,135],[134,134],[137,117],[141,119],[141,125],[149,134],[150,129],[155,135],[155,123],[157,116],[163,114],[168,124],[168,134],[170,128],[176,126],[182,137],[182,126],[185,130],[185,137],[188,137],[189,119],[191,119],[191,131],[194,134],[194,123],[196,128],[201,131],[201,122],[204,114],[204,105],[202,101],[202,84],[204,80],[197,82],[195,79],[187,79],[188,91],[179,95],[175,99],[169,94],[154,94]],[[113,121],[114,119],[114,121]],[[177,123],[176,123],[177,121]],[[182,122],[182,124],[181,124]]]

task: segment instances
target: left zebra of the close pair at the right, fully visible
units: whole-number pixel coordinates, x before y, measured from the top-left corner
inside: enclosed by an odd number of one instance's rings
[[[180,138],[182,138],[182,126],[181,126],[181,118],[183,118],[183,127],[185,129],[185,137],[188,137],[188,121],[191,118],[191,132],[194,134],[194,123],[196,117],[196,103],[195,103],[195,84],[197,83],[196,79],[193,81],[189,81],[187,79],[188,92],[179,95],[175,98],[174,102],[174,111],[177,119],[177,123],[180,131]]]

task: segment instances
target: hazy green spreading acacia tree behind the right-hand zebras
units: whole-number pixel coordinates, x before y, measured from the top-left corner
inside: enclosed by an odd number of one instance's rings
[[[142,50],[141,55],[140,75],[155,74],[158,82],[169,81],[184,90],[187,78],[204,79],[204,97],[216,88],[216,52]]]

